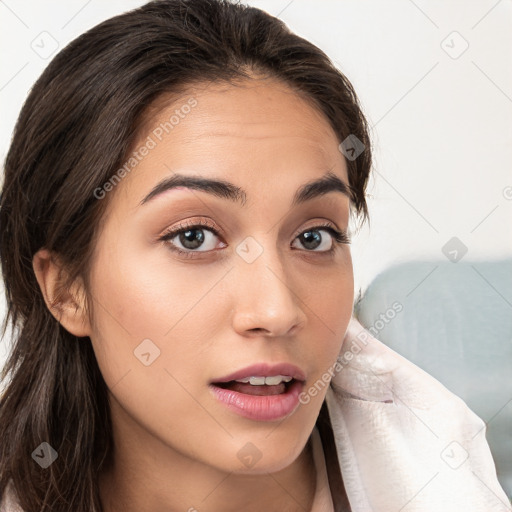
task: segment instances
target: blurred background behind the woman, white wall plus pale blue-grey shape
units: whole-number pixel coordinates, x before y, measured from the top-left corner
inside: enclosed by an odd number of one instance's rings
[[[2,161],[55,53],[143,3],[0,1]],[[352,237],[356,314],[486,421],[511,497],[512,1],[245,3],[315,43],[353,83],[375,159],[371,221]]]

